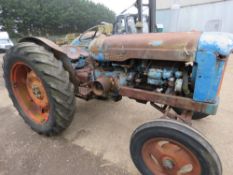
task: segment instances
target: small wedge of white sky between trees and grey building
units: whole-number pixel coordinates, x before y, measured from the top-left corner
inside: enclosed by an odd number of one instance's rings
[[[92,0],[93,2],[102,3],[116,14],[130,7],[136,0]]]

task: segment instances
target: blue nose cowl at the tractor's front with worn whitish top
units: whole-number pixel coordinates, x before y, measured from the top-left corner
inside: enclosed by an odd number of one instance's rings
[[[203,33],[199,40],[193,68],[198,102],[217,103],[227,59],[233,51],[233,35]]]

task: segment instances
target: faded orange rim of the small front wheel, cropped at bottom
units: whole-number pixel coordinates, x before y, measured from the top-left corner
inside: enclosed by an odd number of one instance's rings
[[[151,139],[142,148],[146,166],[155,175],[200,175],[197,157],[184,145],[171,139]]]

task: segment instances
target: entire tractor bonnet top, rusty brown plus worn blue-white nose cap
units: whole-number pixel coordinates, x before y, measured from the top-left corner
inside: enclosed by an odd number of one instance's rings
[[[152,59],[191,62],[201,50],[227,57],[233,51],[233,35],[183,32],[101,36],[89,47],[90,55],[98,61]]]

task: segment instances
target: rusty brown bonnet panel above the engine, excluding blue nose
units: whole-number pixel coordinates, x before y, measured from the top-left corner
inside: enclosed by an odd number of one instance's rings
[[[101,37],[91,43],[91,53],[105,60],[152,59],[193,61],[200,32],[130,34]]]

